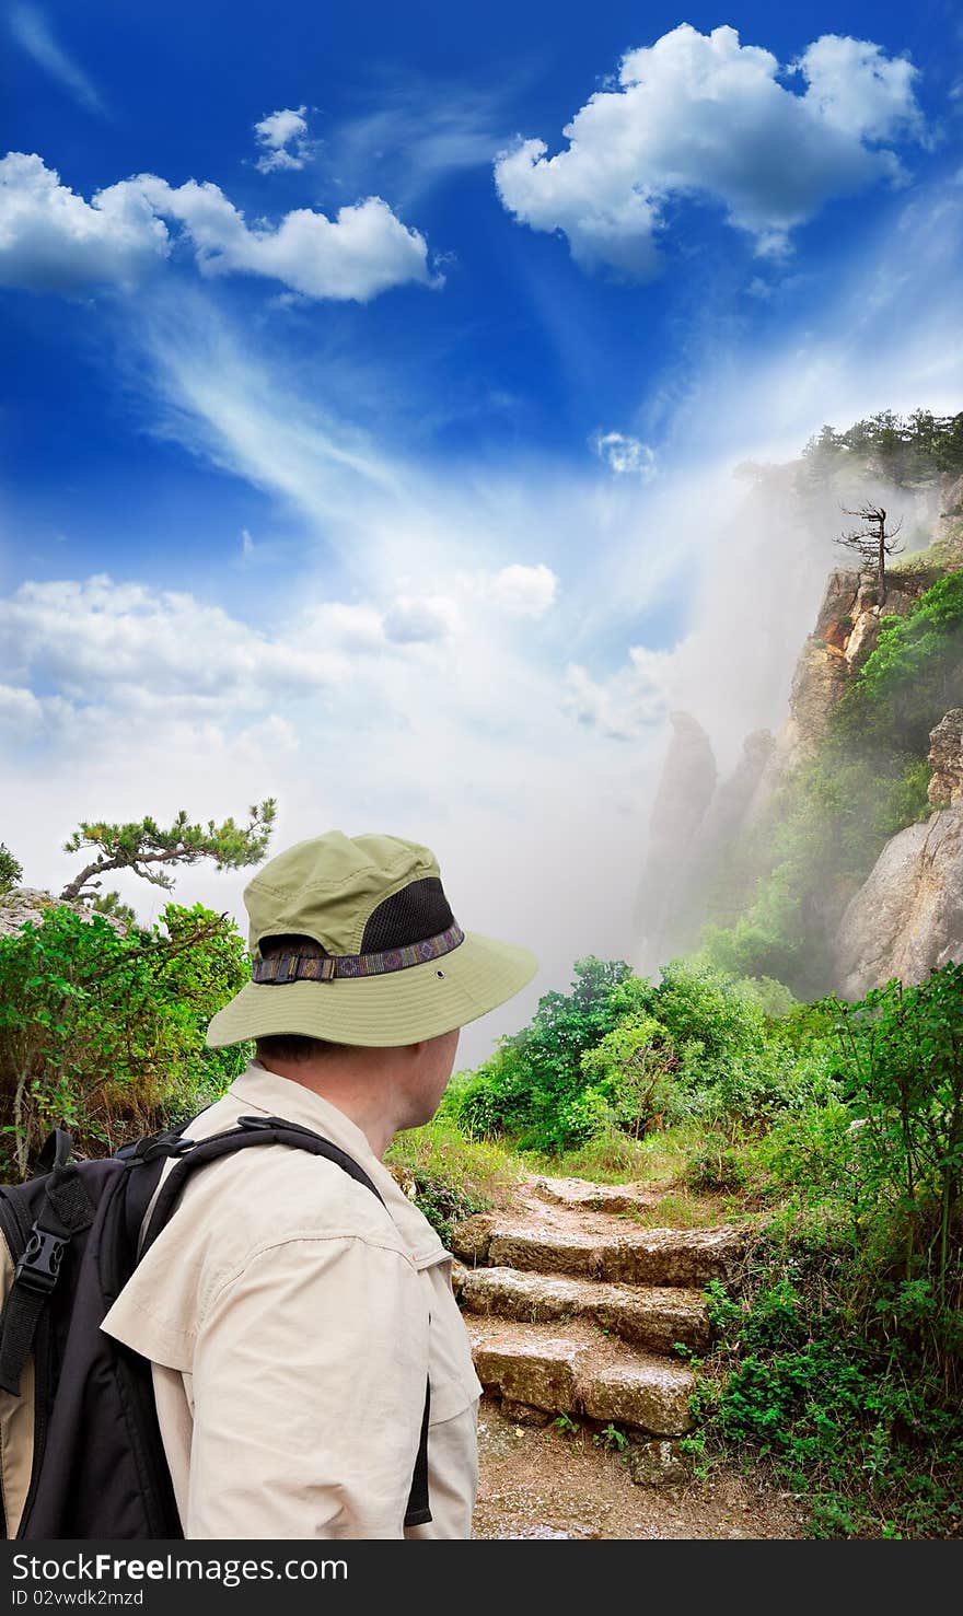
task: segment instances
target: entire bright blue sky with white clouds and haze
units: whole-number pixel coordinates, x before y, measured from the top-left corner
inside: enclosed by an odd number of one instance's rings
[[[761,541],[734,467],[963,407],[955,8],[0,26],[26,877],[82,816],[275,792],[280,842],[433,839],[540,991],[617,950],[671,706],[722,753],[779,722],[831,559],[790,606],[771,580],[782,659],[727,663],[713,567]],[[241,913],[241,882],[181,887]]]

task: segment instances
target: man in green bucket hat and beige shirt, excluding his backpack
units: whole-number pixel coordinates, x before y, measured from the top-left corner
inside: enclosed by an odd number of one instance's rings
[[[462,932],[433,853],[391,835],[299,842],[244,902],[252,981],[207,1042],[257,1058],[187,1133],[283,1117],[381,1199],[281,1144],[212,1162],[103,1328],[152,1362],[184,1537],[470,1537],[482,1388],[451,1257],[381,1157],[536,960]]]

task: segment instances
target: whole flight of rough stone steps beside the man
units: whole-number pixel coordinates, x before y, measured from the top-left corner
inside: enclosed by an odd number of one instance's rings
[[[703,1286],[730,1273],[745,1233],[641,1227],[659,1189],[530,1178],[509,1215],[456,1228],[475,1369],[517,1422],[612,1424],[653,1450],[690,1430],[693,1375],[674,1345],[709,1345]]]

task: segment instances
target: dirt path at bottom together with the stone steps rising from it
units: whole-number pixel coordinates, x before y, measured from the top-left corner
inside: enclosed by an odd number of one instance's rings
[[[692,1382],[672,1341],[706,1343],[701,1286],[742,1235],[659,1225],[666,1189],[532,1176],[456,1231],[485,1385],[475,1537],[805,1535],[800,1503],[758,1471],[679,1471]],[[633,1480],[650,1451],[669,1454],[671,1480]]]

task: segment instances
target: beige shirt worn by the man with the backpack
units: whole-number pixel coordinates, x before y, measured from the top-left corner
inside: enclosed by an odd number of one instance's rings
[[[187,1131],[246,1113],[323,1133],[385,1206],[325,1159],[241,1151],[187,1181],[110,1309],[153,1366],[184,1537],[470,1537],[482,1387],[449,1254],[364,1133],[257,1062]],[[433,1521],[404,1529],[427,1369]]]

